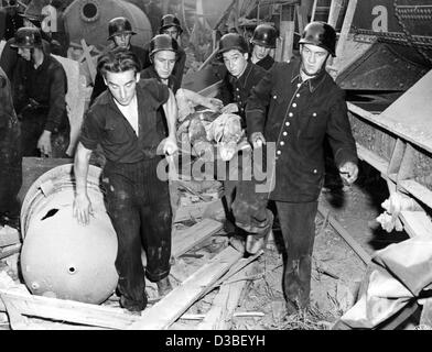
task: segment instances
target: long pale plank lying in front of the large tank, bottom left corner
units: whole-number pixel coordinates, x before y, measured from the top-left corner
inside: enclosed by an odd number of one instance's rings
[[[10,312],[10,307],[12,307],[21,316],[40,317],[86,326],[126,329],[139,318],[118,308],[35,296],[22,290],[17,292],[15,289],[0,289],[0,297],[8,309],[8,314]]]

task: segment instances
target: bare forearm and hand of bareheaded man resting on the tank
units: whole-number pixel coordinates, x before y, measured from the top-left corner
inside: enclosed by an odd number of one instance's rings
[[[76,194],[74,201],[74,217],[80,224],[88,224],[93,215],[91,202],[87,195],[87,174],[91,150],[80,142],[75,152],[74,173],[76,179]]]

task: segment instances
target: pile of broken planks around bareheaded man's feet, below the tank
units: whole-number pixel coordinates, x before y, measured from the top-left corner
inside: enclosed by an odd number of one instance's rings
[[[218,189],[217,185],[210,186]],[[34,296],[19,279],[12,279],[9,272],[1,271],[0,328],[7,317],[9,328],[18,330],[170,329],[176,321],[191,321],[194,305],[201,305],[206,307],[195,310],[199,311],[199,316],[195,314],[194,317],[197,329],[229,329],[248,278],[255,273],[256,260],[262,252],[244,258],[228,246],[223,223],[214,220],[223,220],[220,199],[214,196],[205,200],[191,202],[188,210],[179,208],[172,242],[171,282],[174,288],[160,298],[155,285],[148,283],[150,304],[141,316],[121,309],[116,295],[101,306]],[[187,217],[190,212],[195,213],[194,221],[186,227],[184,221],[191,223],[192,220]],[[20,240],[18,231],[12,233],[7,229],[4,233],[0,243],[7,248]],[[262,315],[242,312],[248,314]]]

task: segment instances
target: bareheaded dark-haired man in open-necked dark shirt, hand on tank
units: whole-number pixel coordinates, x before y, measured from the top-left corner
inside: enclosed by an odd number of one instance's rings
[[[98,59],[108,90],[90,107],[83,122],[75,154],[76,197],[74,216],[90,221],[91,205],[86,176],[91,152],[100,145],[106,156],[102,185],[106,206],[118,238],[116,268],[121,307],[141,311],[147,306],[144,274],[156,282],[159,294],[171,289],[171,208],[168,183],[158,176],[164,154],[176,152],[175,98],[155,79],[140,80],[137,56],[116,48]],[[169,136],[158,131],[156,111],[163,107]],[[171,156],[170,156],[171,157]],[[147,254],[145,273],[141,248]]]

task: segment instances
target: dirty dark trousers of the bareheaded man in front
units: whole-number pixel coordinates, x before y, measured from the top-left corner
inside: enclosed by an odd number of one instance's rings
[[[128,309],[145,308],[145,274],[158,282],[170,273],[172,213],[168,183],[156,177],[160,161],[107,162],[104,168],[106,208],[118,238],[118,289]],[[141,248],[147,254],[145,272]]]

